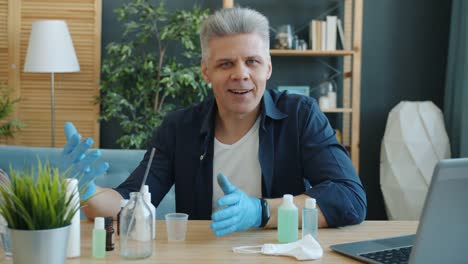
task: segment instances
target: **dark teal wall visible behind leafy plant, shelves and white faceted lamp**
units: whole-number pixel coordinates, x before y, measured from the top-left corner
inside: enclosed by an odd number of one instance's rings
[[[121,27],[113,10],[123,2],[103,0],[103,56],[105,46],[120,38]],[[187,9],[194,2],[211,10],[222,6],[221,0],[172,0],[166,1],[166,6],[170,10]],[[323,11],[323,6],[313,6],[315,1],[235,2],[264,12],[273,27],[291,23],[300,29]],[[360,176],[368,194],[368,219],[386,218],[379,186],[379,162],[380,142],[389,111],[402,100],[431,100],[442,107],[450,6],[451,1],[447,0],[364,0]],[[269,87],[313,86],[324,74],[323,65],[312,57],[273,58],[273,67]],[[334,123],[335,116],[329,118]],[[117,124],[101,123],[101,148],[118,148],[115,140],[119,135]]]

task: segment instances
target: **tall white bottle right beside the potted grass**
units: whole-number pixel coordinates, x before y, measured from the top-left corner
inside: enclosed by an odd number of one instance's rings
[[[72,198],[72,204],[80,204],[80,194],[78,192],[78,180],[67,179],[67,199]],[[72,208],[72,210],[75,208]],[[75,258],[80,256],[80,210],[75,212],[71,220],[70,233],[68,236],[67,258]]]

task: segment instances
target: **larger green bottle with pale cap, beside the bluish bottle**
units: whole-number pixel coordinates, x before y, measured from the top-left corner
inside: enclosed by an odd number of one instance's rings
[[[294,205],[293,196],[285,194],[283,203],[278,207],[278,241],[290,243],[297,241],[298,211]]]

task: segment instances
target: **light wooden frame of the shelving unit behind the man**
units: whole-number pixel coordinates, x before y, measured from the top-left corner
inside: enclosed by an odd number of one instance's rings
[[[272,49],[271,56],[315,56],[343,57],[343,83],[341,93],[342,108],[324,110],[325,113],[342,114],[343,145],[351,151],[354,167],[359,171],[359,134],[361,104],[361,50],[362,50],[362,12],[364,0],[342,0],[344,15],[341,18],[344,27],[344,43],[348,50],[278,50]],[[233,0],[223,0],[224,8],[234,6]],[[268,14],[265,14],[268,16]]]

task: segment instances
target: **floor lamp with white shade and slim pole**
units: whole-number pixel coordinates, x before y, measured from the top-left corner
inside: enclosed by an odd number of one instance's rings
[[[24,72],[50,73],[51,143],[55,147],[54,73],[78,72],[76,57],[67,23],[63,20],[38,20],[32,23]]]

